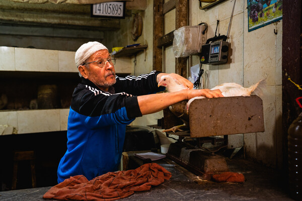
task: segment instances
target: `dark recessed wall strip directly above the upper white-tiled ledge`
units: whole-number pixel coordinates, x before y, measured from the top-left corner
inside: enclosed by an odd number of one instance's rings
[[[0,25],[0,46],[77,51],[89,41],[103,42],[104,33],[70,28]]]

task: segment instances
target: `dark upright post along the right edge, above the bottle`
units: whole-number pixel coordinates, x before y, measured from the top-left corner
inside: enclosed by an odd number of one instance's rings
[[[287,130],[295,120],[301,109],[295,102],[295,98],[302,96],[302,90],[298,89],[291,81],[302,84],[301,70],[301,1],[283,1],[282,17],[282,142],[283,142],[283,168],[287,177]],[[285,178],[286,179],[286,178]]]

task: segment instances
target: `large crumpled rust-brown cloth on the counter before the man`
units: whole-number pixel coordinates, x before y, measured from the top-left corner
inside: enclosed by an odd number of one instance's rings
[[[51,187],[43,198],[60,200],[116,200],[135,191],[149,190],[170,179],[171,172],[157,163],[147,163],[134,170],[108,172],[88,181],[84,175],[72,176]]]

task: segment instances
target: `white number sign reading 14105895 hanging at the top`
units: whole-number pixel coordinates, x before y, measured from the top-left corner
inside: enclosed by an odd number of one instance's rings
[[[106,2],[92,5],[93,17],[125,18],[124,2]]]

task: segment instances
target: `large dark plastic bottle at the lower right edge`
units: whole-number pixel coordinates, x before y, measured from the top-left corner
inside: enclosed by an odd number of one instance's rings
[[[302,200],[302,113],[288,128],[288,183],[290,196]]]

